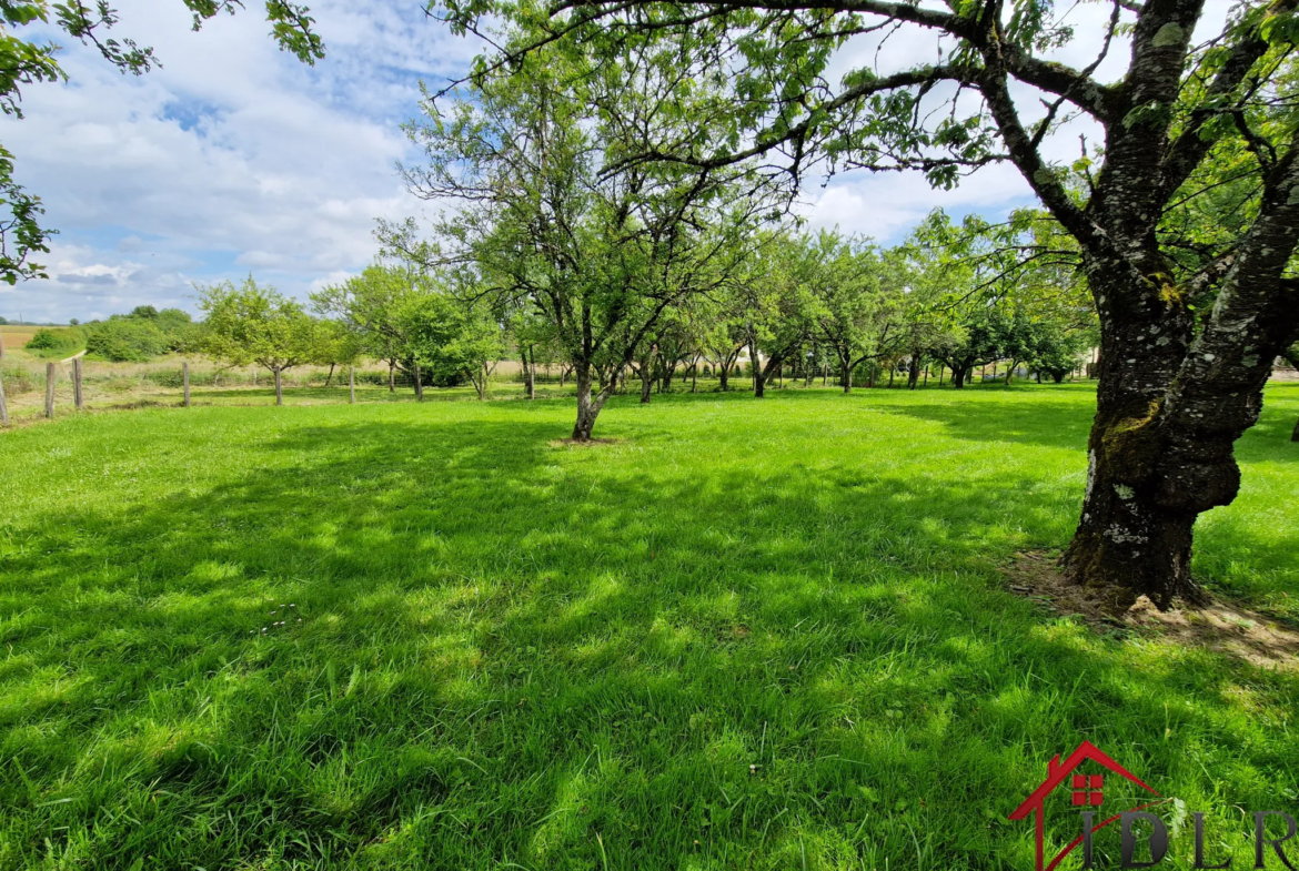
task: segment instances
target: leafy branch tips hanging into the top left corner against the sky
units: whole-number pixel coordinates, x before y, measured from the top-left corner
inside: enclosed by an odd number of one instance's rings
[[[217,13],[234,13],[243,5],[238,0],[183,3],[194,13],[195,30]],[[266,19],[275,42],[299,60],[312,64],[323,57],[325,52],[320,36],[312,31],[314,22],[307,12],[307,6],[290,0],[266,3]],[[104,36],[104,31],[117,21],[117,10],[107,0],[97,4],[79,0],[55,4],[48,0],[8,0],[0,4],[0,109],[6,116],[22,118],[22,86],[68,79],[56,57],[58,45],[25,39],[19,35],[23,27],[52,25],[70,38],[94,45],[104,60],[122,73],[140,75],[158,65],[152,48],[136,45],[131,39]],[[0,201],[8,206],[8,217],[0,218],[0,280],[9,284],[17,283],[19,278],[49,278],[44,266],[32,262],[30,257],[49,253],[48,240],[56,232],[40,226],[40,215],[45,212],[40,197],[25,191],[14,180],[13,170],[13,154],[0,147]]]

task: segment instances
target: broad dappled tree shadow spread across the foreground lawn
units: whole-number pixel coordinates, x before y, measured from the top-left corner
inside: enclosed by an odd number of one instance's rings
[[[301,428],[265,445],[310,452],[291,474],[31,518],[0,637],[0,680],[32,687],[0,710],[12,842],[100,866],[1020,867],[1004,814],[1081,735],[1195,807],[1274,798],[1295,741],[1256,710],[1294,678],[995,588],[983,528],[1055,506],[1028,482],[699,476],[553,435]],[[304,623],[262,637],[286,601]]]

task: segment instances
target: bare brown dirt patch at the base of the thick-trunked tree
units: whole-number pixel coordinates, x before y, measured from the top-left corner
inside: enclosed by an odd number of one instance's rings
[[[1167,611],[1146,596],[1120,609],[1104,591],[1068,582],[1056,557],[1040,550],[1015,554],[1002,566],[1002,574],[1011,592],[1059,614],[1076,614],[1102,632],[1128,630],[1170,644],[1208,648],[1265,669],[1299,670],[1299,632],[1208,593],[1199,604],[1174,600]]]

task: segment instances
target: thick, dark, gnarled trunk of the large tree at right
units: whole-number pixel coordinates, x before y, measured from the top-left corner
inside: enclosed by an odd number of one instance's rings
[[[1257,421],[1295,315],[1259,310],[1243,282],[1229,282],[1213,322],[1192,340],[1176,288],[1125,284],[1108,264],[1086,270],[1102,325],[1100,383],[1082,519],[1064,567],[1074,582],[1111,591],[1118,606],[1142,593],[1159,607],[1174,596],[1195,600],[1195,518],[1235,498],[1233,445]]]

